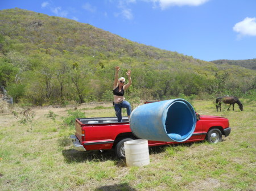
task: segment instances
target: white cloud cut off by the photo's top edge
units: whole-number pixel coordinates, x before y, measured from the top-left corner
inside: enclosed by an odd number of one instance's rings
[[[171,6],[199,6],[203,5],[205,2],[209,0],[146,0],[151,1],[153,3],[159,3],[161,9],[167,9]]]

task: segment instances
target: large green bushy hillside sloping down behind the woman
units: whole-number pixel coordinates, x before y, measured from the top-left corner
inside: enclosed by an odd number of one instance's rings
[[[170,99],[255,92],[254,70],[135,43],[75,20],[0,11],[0,84],[16,103],[110,101],[114,66],[131,69],[126,97]]]

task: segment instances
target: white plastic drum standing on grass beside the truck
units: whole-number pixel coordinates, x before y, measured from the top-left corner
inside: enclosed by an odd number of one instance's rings
[[[150,163],[147,140],[126,141],[124,145],[127,167],[142,167]]]

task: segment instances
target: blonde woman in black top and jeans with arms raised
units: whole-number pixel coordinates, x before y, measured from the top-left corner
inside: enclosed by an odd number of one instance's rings
[[[131,114],[131,105],[128,101],[125,100],[123,96],[125,94],[125,90],[129,88],[131,85],[131,70],[127,71],[127,77],[129,82],[125,84],[125,78],[121,77],[118,79],[118,71],[120,70],[119,66],[115,66],[115,79],[113,86],[113,94],[114,94],[114,108],[115,115],[117,116],[117,121],[122,122],[122,108],[126,108],[127,116],[130,118]]]

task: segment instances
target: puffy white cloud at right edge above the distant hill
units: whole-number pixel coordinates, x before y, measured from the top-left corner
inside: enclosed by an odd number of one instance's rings
[[[234,25],[233,30],[242,36],[256,36],[256,18],[246,17],[243,21]]]

